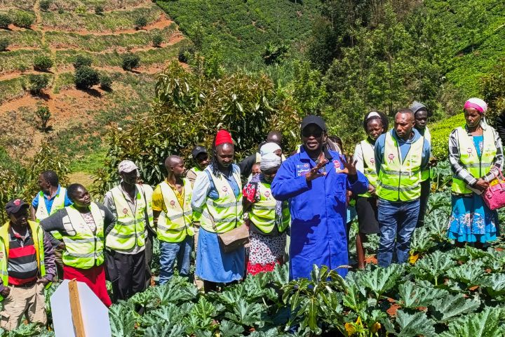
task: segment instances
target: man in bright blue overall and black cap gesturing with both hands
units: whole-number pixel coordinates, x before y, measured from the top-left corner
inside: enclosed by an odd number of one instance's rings
[[[347,265],[346,190],[368,190],[368,180],[325,147],[326,124],[321,117],[302,121],[300,152],[285,160],[271,185],[277,200],[289,200],[291,212],[290,279],[310,277],[313,265],[336,269]],[[345,268],[339,275],[347,274]]]

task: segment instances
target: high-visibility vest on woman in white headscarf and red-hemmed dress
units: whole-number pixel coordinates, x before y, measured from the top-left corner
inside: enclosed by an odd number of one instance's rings
[[[276,204],[277,200],[271,194],[270,184],[258,183],[258,192],[260,193],[260,201],[255,202],[249,211],[250,221],[265,234],[269,234],[274,230],[276,225]],[[278,223],[278,232],[282,233],[289,227],[291,216],[288,208],[288,202],[282,203],[282,219]]]

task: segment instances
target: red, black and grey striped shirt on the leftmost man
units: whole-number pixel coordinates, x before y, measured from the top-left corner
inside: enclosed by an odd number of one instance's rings
[[[8,283],[15,286],[36,280],[39,267],[36,260],[34,240],[27,227],[22,235],[9,228]]]

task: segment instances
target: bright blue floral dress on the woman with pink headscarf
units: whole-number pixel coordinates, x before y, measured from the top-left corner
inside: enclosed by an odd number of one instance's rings
[[[483,141],[483,136],[473,136],[478,156],[482,152]],[[496,240],[497,235],[498,213],[491,211],[480,195],[452,194],[452,214],[447,230],[449,239],[485,243]]]

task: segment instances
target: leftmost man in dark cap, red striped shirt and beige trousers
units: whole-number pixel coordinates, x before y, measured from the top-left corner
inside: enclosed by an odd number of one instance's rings
[[[44,287],[56,273],[53,245],[38,223],[28,220],[29,204],[13,199],[6,204],[9,221],[0,227],[0,326],[29,322],[46,324]]]

